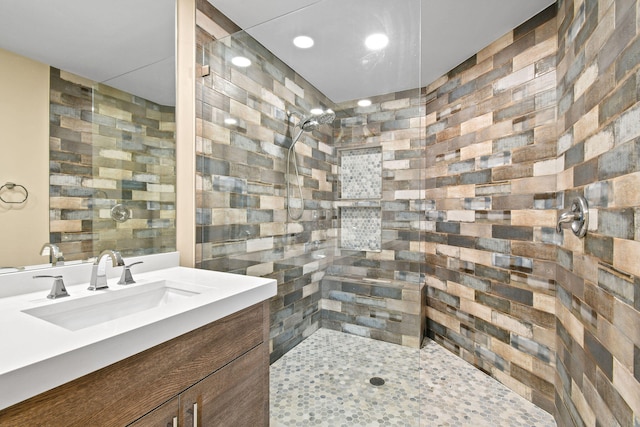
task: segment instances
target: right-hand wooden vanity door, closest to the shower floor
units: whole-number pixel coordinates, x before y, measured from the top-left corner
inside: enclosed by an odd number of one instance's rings
[[[269,363],[260,345],[180,395],[184,427],[268,426]]]

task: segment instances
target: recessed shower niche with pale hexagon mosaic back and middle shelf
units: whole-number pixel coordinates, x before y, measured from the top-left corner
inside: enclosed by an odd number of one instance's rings
[[[340,247],[382,249],[382,148],[340,150]]]

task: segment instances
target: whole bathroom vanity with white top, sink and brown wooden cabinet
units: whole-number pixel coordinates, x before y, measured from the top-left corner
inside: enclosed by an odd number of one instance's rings
[[[102,291],[90,264],[52,268],[59,299],[33,272],[0,278],[0,425],[268,425],[275,280],[138,260],[135,284],[107,268]]]

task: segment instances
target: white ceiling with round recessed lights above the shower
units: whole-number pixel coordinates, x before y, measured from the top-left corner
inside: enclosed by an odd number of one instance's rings
[[[554,0],[208,0],[334,102],[425,86]],[[364,38],[386,33],[371,52]],[[307,35],[311,49],[292,40]]]

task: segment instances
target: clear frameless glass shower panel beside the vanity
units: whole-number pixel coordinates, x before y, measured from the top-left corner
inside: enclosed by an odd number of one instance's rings
[[[359,32],[354,22],[366,25]],[[366,37],[379,33],[400,48],[368,50]],[[296,48],[298,35],[313,47]],[[197,265],[278,281],[273,362],[318,329],[397,344],[398,356],[376,362],[371,354],[371,363],[403,366],[384,378],[386,387],[403,383],[395,409],[418,425],[420,1],[316,2],[203,41],[197,58]],[[315,109],[335,119],[310,125]],[[289,152],[297,175],[292,161],[287,173]],[[299,220],[287,214],[287,200]],[[353,366],[349,381],[377,387],[362,368]]]

